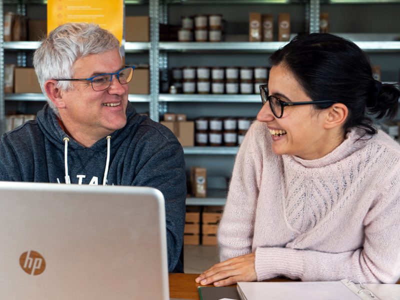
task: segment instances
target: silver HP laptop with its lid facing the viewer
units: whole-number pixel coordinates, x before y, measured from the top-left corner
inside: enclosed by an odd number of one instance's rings
[[[169,299],[162,193],[0,182],[0,295]]]

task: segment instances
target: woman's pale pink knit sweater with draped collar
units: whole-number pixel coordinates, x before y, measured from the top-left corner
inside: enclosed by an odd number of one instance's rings
[[[303,160],[275,155],[266,125],[255,121],[218,229],[221,261],[255,251],[257,280],[397,281],[400,145],[382,131],[357,140],[361,132]]]

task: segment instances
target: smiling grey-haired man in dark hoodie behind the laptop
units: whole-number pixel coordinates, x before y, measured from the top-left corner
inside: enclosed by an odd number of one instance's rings
[[[0,180],[155,187],[165,198],[168,270],[183,271],[183,150],[128,102],[134,67],[122,64],[118,40],[96,24],[66,23],[33,64],[47,103],[1,137]]]

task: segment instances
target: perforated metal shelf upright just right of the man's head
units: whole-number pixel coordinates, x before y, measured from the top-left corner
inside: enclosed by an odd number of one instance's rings
[[[158,72],[158,56],[159,56],[159,14],[158,0],[149,0],[149,16],[150,16],[150,118],[156,122],[159,121],[158,115],[158,97],[159,97],[159,72]]]

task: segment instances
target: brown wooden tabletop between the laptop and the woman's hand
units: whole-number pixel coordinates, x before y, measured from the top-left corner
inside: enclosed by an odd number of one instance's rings
[[[169,273],[169,296],[171,298],[183,298],[200,300],[197,292],[197,286],[213,286],[213,285],[201,285],[196,283],[194,279],[199,274],[184,274],[184,273]],[[274,278],[268,281],[291,281],[283,278]],[[400,280],[397,281],[400,284]],[[235,285],[230,285],[235,286]]]

